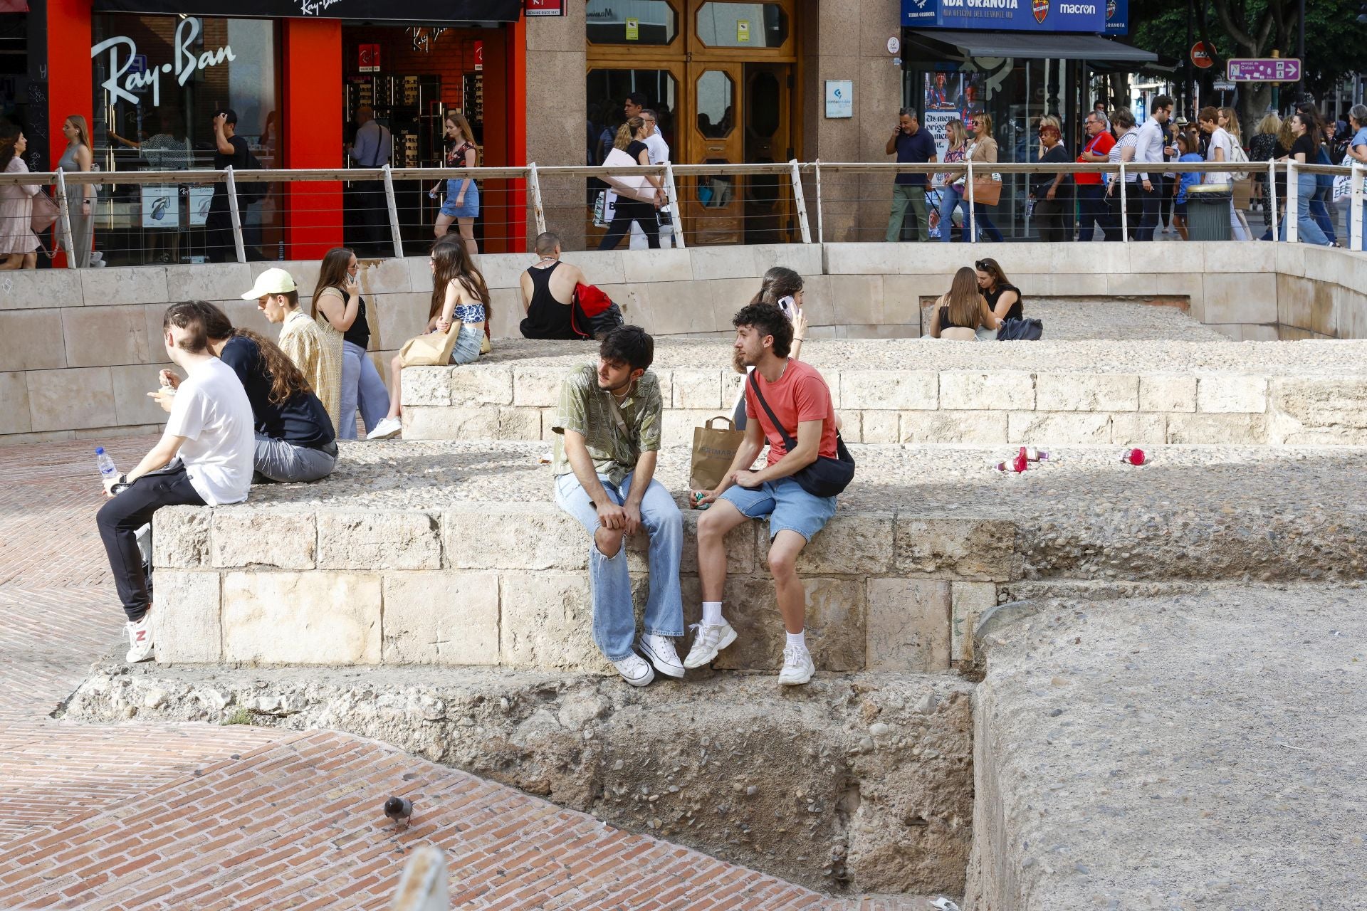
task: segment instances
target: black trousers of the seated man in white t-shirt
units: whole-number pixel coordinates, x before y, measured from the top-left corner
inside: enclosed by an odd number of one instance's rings
[[[179,462],[175,467],[142,475],[127,490],[107,500],[94,516],[119,601],[130,620],[141,620],[152,606],[152,586],[138,553],[138,529],[152,522],[161,507],[175,505],[206,505]]]

